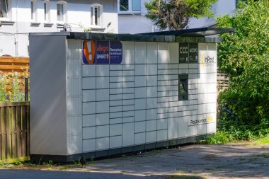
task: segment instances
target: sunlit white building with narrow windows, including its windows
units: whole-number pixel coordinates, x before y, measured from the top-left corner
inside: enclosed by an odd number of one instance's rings
[[[0,57],[28,57],[28,34],[118,33],[117,0],[0,0]]]

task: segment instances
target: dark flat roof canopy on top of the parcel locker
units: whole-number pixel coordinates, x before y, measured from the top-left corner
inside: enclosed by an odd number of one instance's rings
[[[67,39],[120,40],[141,42],[221,42],[220,37],[208,37],[222,33],[233,33],[234,28],[193,28],[184,30],[169,30],[156,33],[141,34],[111,34],[111,33],[30,33],[30,36],[67,36]]]

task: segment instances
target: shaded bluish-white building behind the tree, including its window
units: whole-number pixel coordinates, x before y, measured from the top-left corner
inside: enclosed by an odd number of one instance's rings
[[[144,3],[150,0],[118,0],[119,33],[149,33],[159,29],[145,17],[147,8]],[[213,4],[215,18],[192,18],[188,28],[209,27],[215,24],[218,16],[232,14],[236,9],[236,0],[219,0]]]

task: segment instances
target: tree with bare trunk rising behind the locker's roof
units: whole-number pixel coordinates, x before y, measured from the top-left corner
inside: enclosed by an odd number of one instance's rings
[[[185,28],[190,18],[212,18],[212,4],[217,0],[151,0],[145,3],[146,17],[161,30]]]

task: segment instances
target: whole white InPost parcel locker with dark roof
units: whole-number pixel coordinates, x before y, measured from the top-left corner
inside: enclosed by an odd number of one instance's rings
[[[230,30],[31,33],[31,156],[72,161],[216,132],[218,39],[205,35]]]

